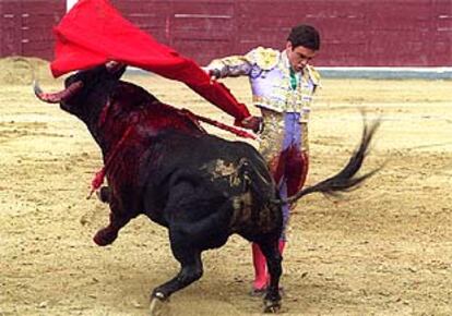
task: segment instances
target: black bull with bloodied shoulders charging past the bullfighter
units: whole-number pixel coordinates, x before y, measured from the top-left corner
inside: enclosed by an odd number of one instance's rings
[[[179,274],[154,289],[153,303],[201,278],[201,253],[224,245],[233,233],[260,245],[271,275],[265,311],[281,306],[281,204],[261,155],[242,142],[209,135],[187,111],[159,102],[143,88],[120,81],[123,68],[97,66],[71,75],[60,93],[37,97],[81,119],[99,145],[110,187],[110,223],[94,238],[115,241],[118,231],[144,214],[166,227]],[[355,187],[368,145],[378,126],[365,125],[361,144],[336,175],[307,187],[335,194]]]

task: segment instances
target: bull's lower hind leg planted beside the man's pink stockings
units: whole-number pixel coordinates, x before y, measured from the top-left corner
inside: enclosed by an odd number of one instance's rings
[[[270,272],[270,284],[264,296],[264,312],[276,313],[281,308],[279,278],[283,274],[283,257],[278,251],[277,240],[259,243]]]

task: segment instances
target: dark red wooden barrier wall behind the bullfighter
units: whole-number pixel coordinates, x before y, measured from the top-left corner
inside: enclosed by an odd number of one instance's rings
[[[323,66],[452,66],[452,0],[111,0],[157,40],[205,64],[283,48],[293,25],[319,28]],[[52,57],[61,0],[2,0],[0,56]]]

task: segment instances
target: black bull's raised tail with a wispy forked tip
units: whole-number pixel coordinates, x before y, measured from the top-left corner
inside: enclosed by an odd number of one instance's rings
[[[362,183],[366,179],[373,175],[376,172],[378,172],[382,167],[377,168],[364,175],[356,175],[358,170],[362,166],[362,161],[366,158],[369,149],[369,144],[373,137],[373,134],[376,133],[378,126],[380,125],[380,121],[373,122],[370,126],[368,126],[365,122],[365,126],[362,130],[362,137],[361,143],[358,147],[358,149],[355,151],[355,154],[350,157],[350,160],[348,163],[337,174],[318,183],[312,186],[308,186],[298,193],[296,193],[293,196],[289,196],[285,199],[273,199],[272,202],[277,205],[283,204],[290,204],[299,198],[301,198],[304,195],[314,193],[314,192],[321,192],[326,195],[338,195],[341,192],[348,192],[358,186],[358,184]]]

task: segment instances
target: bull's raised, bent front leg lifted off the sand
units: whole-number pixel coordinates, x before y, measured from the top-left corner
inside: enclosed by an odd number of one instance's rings
[[[99,246],[111,244],[118,238],[119,230],[134,217],[132,212],[119,211],[117,205],[115,200],[110,200],[110,222],[94,235],[93,240]]]

